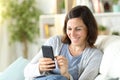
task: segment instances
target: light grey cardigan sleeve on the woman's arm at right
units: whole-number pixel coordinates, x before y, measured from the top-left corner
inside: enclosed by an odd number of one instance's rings
[[[101,64],[102,52],[97,51],[91,55],[86,61],[86,67],[83,69],[79,80],[94,80],[99,73]]]

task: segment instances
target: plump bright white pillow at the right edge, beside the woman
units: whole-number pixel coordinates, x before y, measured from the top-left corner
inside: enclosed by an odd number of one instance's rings
[[[116,40],[104,50],[100,73],[108,77],[120,77],[120,40]]]

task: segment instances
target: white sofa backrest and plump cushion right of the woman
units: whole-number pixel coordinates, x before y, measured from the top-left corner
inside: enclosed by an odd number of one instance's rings
[[[102,38],[102,39],[101,39]],[[99,36],[96,46],[103,52],[100,75],[96,80],[107,80],[120,77],[120,36]]]

